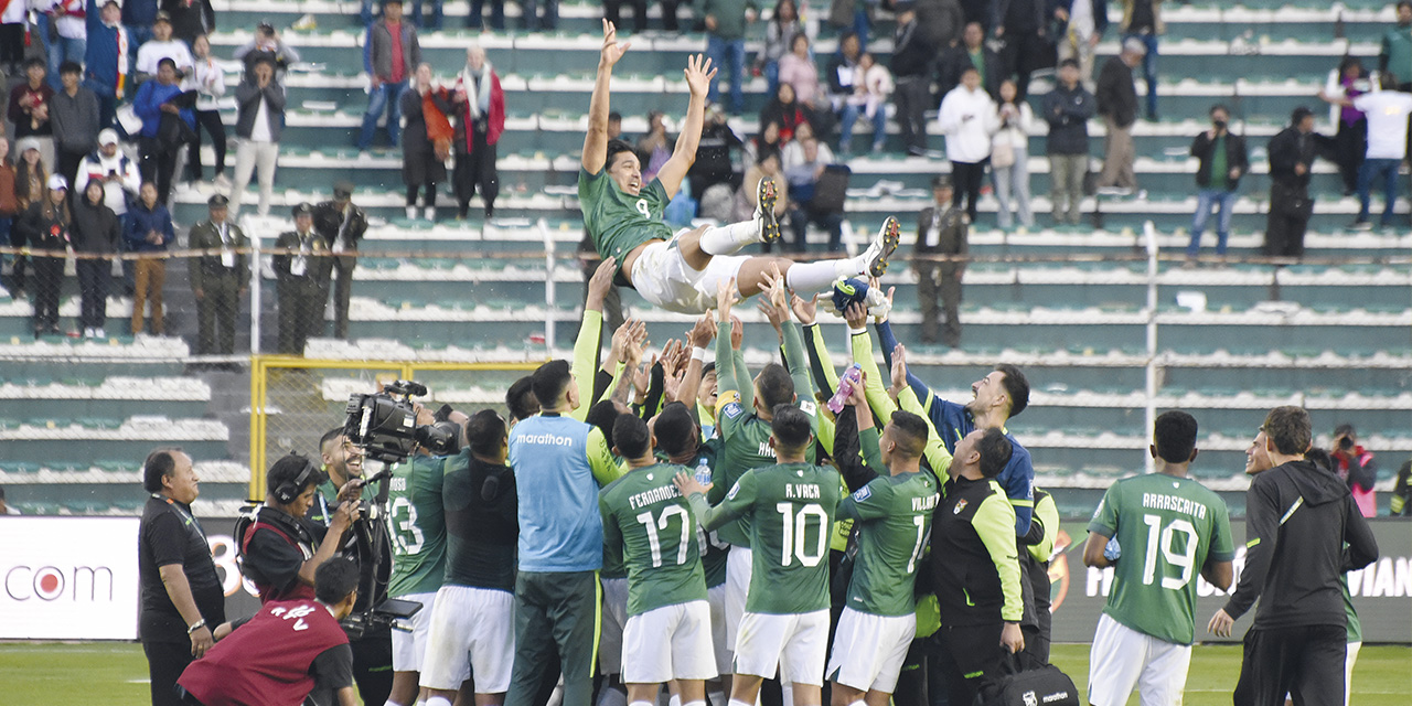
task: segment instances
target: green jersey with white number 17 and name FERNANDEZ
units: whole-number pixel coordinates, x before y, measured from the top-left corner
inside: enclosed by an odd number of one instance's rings
[[[627,566],[627,613],[706,600],[696,518],[671,463],[633,469],[599,491],[603,545]]]

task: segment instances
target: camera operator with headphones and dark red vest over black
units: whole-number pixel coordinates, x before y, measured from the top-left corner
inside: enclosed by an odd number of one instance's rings
[[[265,476],[265,501],[257,507],[249,525],[237,524],[241,570],[260,592],[260,602],[312,600],[313,575],[332,559],[343,537],[363,508],[343,503],[333,513],[322,539],[304,520],[313,507],[315,486],[323,473],[313,462],[291,453],[274,463]],[[350,480],[340,498],[357,498],[361,480]],[[244,522],[244,521],[243,521]]]

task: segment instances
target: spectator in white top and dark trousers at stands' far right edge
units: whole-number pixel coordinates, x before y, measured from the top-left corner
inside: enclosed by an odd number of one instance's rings
[[[1408,155],[1408,116],[1412,114],[1412,95],[1398,90],[1398,78],[1392,72],[1382,75],[1387,88],[1363,93],[1358,97],[1333,97],[1320,95],[1324,100],[1340,106],[1351,106],[1368,117],[1368,147],[1363,167],[1358,168],[1358,217],[1353,222],[1356,230],[1372,230],[1368,220],[1368,202],[1372,182],[1382,181],[1382,227],[1392,227],[1392,210],[1398,201],[1398,169]]]

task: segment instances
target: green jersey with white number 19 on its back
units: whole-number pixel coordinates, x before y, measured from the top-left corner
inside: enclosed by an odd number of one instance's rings
[[[1192,479],[1148,473],[1113,483],[1089,531],[1115,537],[1121,551],[1103,611],[1138,633],[1192,644],[1202,566],[1236,558],[1226,503]]]

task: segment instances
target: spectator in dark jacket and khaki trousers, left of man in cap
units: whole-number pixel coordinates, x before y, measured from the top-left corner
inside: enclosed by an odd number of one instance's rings
[[[1079,62],[1059,62],[1059,85],[1043,100],[1045,121],[1049,123],[1045,151],[1049,154],[1051,201],[1056,226],[1079,225],[1083,175],[1089,171],[1089,119],[1093,117],[1093,93],[1079,83]]]

